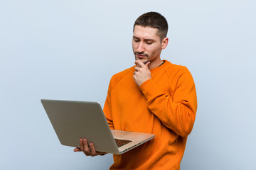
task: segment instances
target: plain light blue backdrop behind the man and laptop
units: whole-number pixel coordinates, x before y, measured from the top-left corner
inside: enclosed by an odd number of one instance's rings
[[[64,147],[41,98],[99,101],[134,64],[132,26],[169,22],[162,59],[190,69],[198,112],[181,169],[255,169],[256,2],[0,1],[0,169],[107,169]],[[170,160],[171,161],[171,160]]]

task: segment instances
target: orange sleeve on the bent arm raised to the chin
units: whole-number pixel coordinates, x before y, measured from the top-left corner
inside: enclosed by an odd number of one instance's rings
[[[167,128],[186,137],[191,132],[196,118],[196,87],[186,67],[179,69],[176,74],[169,74],[168,77],[169,79],[163,82],[169,84],[173,93],[161,91],[154,79],[145,81],[139,88],[146,97],[151,112]]]

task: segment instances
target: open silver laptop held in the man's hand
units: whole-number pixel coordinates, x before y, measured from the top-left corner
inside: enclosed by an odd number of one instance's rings
[[[42,99],[50,123],[60,143],[80,148],[86,138],[99,152],[123,154],[155,137],[154,134],[111,130],[100,103]],[[121,145],[119,144],[121,141]]]

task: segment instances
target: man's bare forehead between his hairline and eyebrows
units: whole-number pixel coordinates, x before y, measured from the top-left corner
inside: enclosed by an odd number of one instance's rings
[[[135,26],[133,35],[137,38],[152,39],[159,38],[159,35],[157,33],[157,28]]]

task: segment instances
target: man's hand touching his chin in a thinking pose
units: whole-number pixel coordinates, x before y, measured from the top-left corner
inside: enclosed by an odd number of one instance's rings
[[[150,62],[147,62],[146,64],[144,64],[141,60],[136,60],[135,64],[137,64],[137,66],[135,67],[133,78],[135,83],[138,86],[140,86],[146,80],[151,79],[151,72],[149,71]]]

